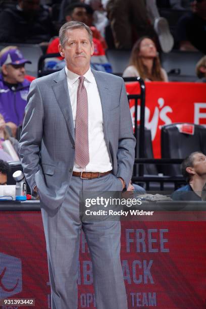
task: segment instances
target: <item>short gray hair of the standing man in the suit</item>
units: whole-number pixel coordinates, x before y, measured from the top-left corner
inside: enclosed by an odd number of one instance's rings
[[[91,29],[82,22],[69,21],[69,22],[65,23],[60,28],[59,37],[60,37],[60,44],[62,45],[62,47],[64,47],[64,44],[67,41],[67,36],[66,36],[67,31],[73,30],[73,29],[79,29],[79,28],[86,29],[86,31],[88,32],[88,36],[89,36],[89,42],[92,44],[92,31],[91,31]]]

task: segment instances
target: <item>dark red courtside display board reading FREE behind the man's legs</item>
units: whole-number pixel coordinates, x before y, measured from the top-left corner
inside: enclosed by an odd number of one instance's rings
[[[129,309],[206,307],[206,221],[195,219],[201,214],[188,215],[188,221],[122,221],[121,261]],[[34,308],[51,308],[41,213],[2,212],[0,222],[0,299],[34,299]],[[78,266],[78,309],[95,308],[83,233]]]

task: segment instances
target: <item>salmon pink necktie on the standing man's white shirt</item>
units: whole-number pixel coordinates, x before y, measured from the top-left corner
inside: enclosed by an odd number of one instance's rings
[[[84,76],[79,77],[75,130],[75,162],[81,168],[89,163],[88,99],[84,79]]]

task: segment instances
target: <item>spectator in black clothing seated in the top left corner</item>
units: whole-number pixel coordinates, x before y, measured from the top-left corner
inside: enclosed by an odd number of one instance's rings
[[[53,24],[48,9],[40,0],[18,0],[16,8],[0,14],[0,41],[14,43],[48,42],[53,36]]]

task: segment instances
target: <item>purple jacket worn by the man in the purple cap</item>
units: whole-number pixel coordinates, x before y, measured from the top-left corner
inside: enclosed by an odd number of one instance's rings
[[[17,87],[10,88],[0,74],[0,113],[4,116],[5,122],[11,121],[17,126],[22,124],[29,86],[30,82],[25,79]]]

